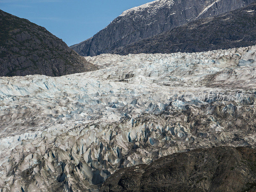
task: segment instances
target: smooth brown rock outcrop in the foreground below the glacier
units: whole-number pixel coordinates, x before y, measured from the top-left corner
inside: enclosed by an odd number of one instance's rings
[[[104,182],[100,192],[253,192],[255,166],[255,149],[196,149],[162,157],[149,165],[120,169]]]

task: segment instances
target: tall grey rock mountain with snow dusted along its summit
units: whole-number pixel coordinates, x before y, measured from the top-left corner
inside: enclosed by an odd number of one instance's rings
[[[228,12],[254,0],[156,0],[123,12],[93,37],[70,48],[82,56],[114,49],[155,36],[189,21]]]

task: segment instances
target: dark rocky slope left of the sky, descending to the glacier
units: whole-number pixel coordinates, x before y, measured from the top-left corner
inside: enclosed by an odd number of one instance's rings
[[[62,76],[96,70],[44,27],[0,10],[0,76]]]

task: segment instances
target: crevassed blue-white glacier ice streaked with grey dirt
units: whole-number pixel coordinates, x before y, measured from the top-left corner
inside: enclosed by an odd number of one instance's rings
[[[256,46],[86,60],[99,70],[0,78],[0,191],[98,191],[176,152],[255,148]]]

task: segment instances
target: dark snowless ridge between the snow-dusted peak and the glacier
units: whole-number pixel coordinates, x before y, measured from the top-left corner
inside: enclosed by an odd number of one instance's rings
[[[256,3],[192,21],[168,32],[119,47],[111,53],[204,52],[256,44]]]

